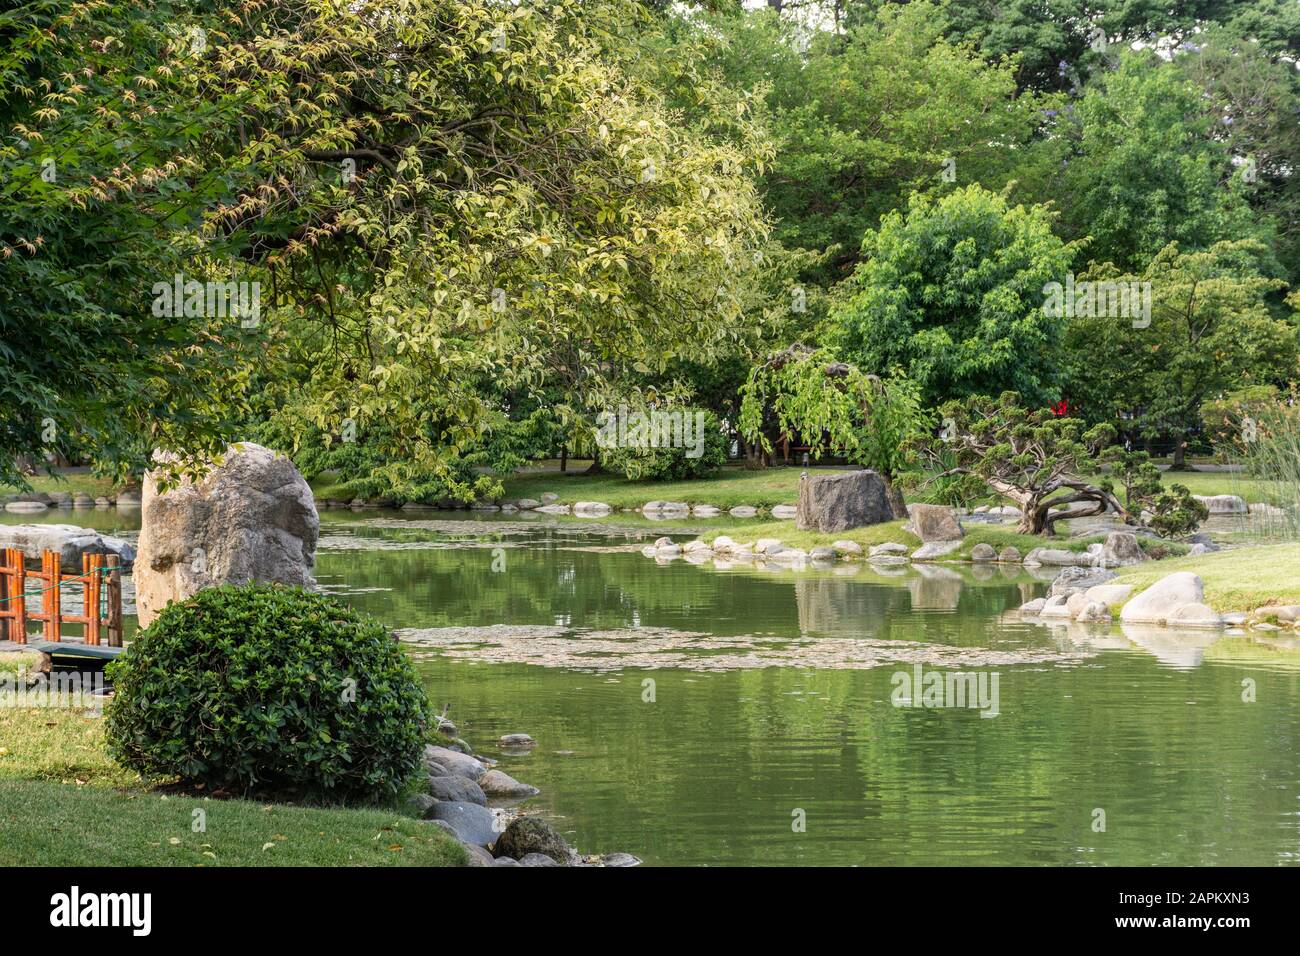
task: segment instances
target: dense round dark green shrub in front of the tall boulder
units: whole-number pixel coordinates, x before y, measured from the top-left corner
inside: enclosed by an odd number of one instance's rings
[[[376,619],[251,584],[168,605],[109,666],[109,752],[150,778],[247,793],[396,793],[429,704]]]

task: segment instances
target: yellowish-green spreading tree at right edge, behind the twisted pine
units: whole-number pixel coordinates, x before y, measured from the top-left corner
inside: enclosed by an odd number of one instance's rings
[[[1147,282],[1152,310],[1141,317],[1076,315],[1069,325],[1070,394],[1092,420],[1131,416],[1148,437],[1174,440],[1184,467],[1186,440],[1201,403],[1244,385],[1286,382],[1296,372],[1296,329],[1275,315],[1282,286],[1262,276],[1260,243],[1221,242],[1200,252],[1170,243],[1141,272],[1112,267],[1089,280]]]

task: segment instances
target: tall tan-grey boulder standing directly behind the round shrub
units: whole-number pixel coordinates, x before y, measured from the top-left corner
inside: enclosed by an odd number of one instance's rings
[[[231,445],[220,467],[159,493],[144,476],[135,602],[147,627],[170,601],[218,584],[312,583],[320,518],[294,463],[261,445]]]

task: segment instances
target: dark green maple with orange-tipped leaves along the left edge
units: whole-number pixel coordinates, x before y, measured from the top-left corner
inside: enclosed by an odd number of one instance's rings
[[[150,302],[183,271],[174,217],[222,172],[178,146],[198,147],[220,105],[168,101],[186,69],[168,16],[0,12],[0,483],[83,449],[120,477],[155,445],[214,453],[239,415],[252,334]]]

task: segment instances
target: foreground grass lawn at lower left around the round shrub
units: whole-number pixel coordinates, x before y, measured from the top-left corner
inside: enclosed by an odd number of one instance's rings
[[[8,654],[0,656],[0,662]],[[204,830],[194,831],[196,809]],[[211,800],[113,763],[103,721],[0,706],[0,866],[460,866],[441,827],[399,809]]]

